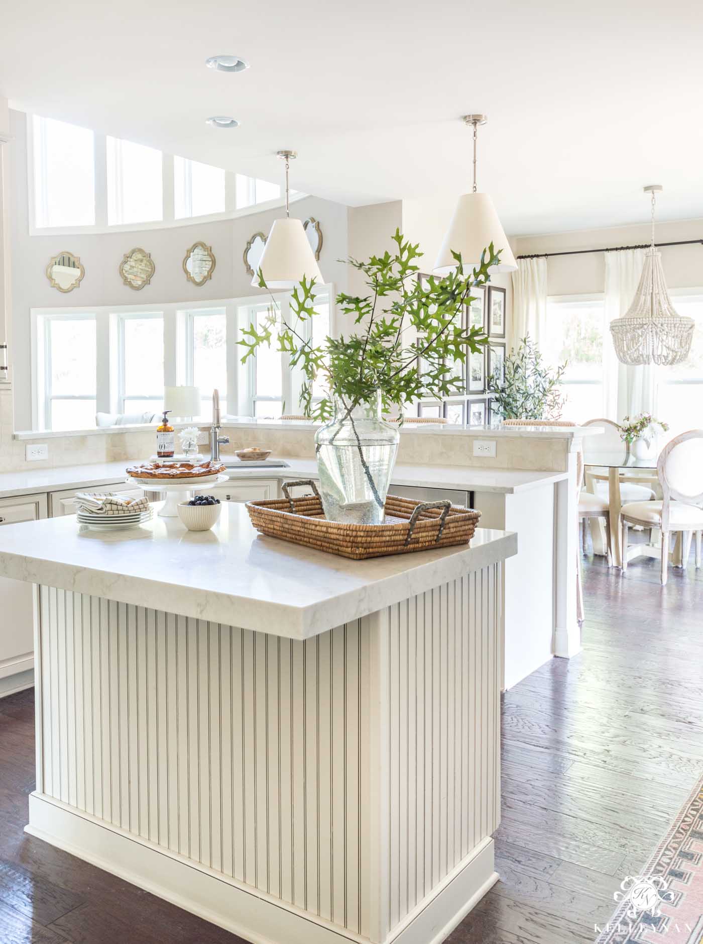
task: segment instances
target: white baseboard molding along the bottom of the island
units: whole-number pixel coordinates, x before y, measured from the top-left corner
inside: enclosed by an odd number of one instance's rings
[[[252,944],[368,944],[354,935],[267,899],[254,889],[123,830],[106,829],[92,817],[51,797],[29,795],[29,825],[25,833],[90,862],[132,885],[143,888],[217,924]],[[494,840],[479,843],[467,860],[434,889],[429,901],[395,929],[387,944],[441,944],[497,882]],[[449,916],[449,917],[447,917]]]

